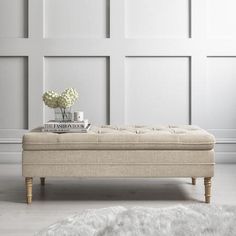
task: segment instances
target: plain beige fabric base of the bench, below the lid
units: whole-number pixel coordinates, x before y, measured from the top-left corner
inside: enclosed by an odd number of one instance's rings
[[[212,177],[208,151],[24,151],[23,175],[80,177]]]

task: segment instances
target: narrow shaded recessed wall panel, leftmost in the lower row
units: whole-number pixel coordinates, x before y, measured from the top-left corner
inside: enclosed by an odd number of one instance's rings
[[[28,127],[26,57],[0,57],[0,129]]]

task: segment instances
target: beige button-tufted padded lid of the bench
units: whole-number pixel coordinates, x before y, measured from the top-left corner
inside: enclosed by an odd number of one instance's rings
[[[46,133],[23,137],[24,150],[211,150],[215,138],[191,125],[92,126],[88,133]]]

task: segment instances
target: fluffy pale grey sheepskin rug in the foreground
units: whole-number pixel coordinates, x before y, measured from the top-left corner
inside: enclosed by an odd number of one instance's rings
[[[37,236],[233,236],[236,206],[110,207],[67,217]]]

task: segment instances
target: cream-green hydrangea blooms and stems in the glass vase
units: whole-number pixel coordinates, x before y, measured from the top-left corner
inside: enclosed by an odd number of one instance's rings
[[[54,91],[47,91],[43,94],[44,104],[50,108],[59,108],[62,120],[68,120],[67,108],[74,105],[79,95],[76,89],[67,88],[61,94]]]

